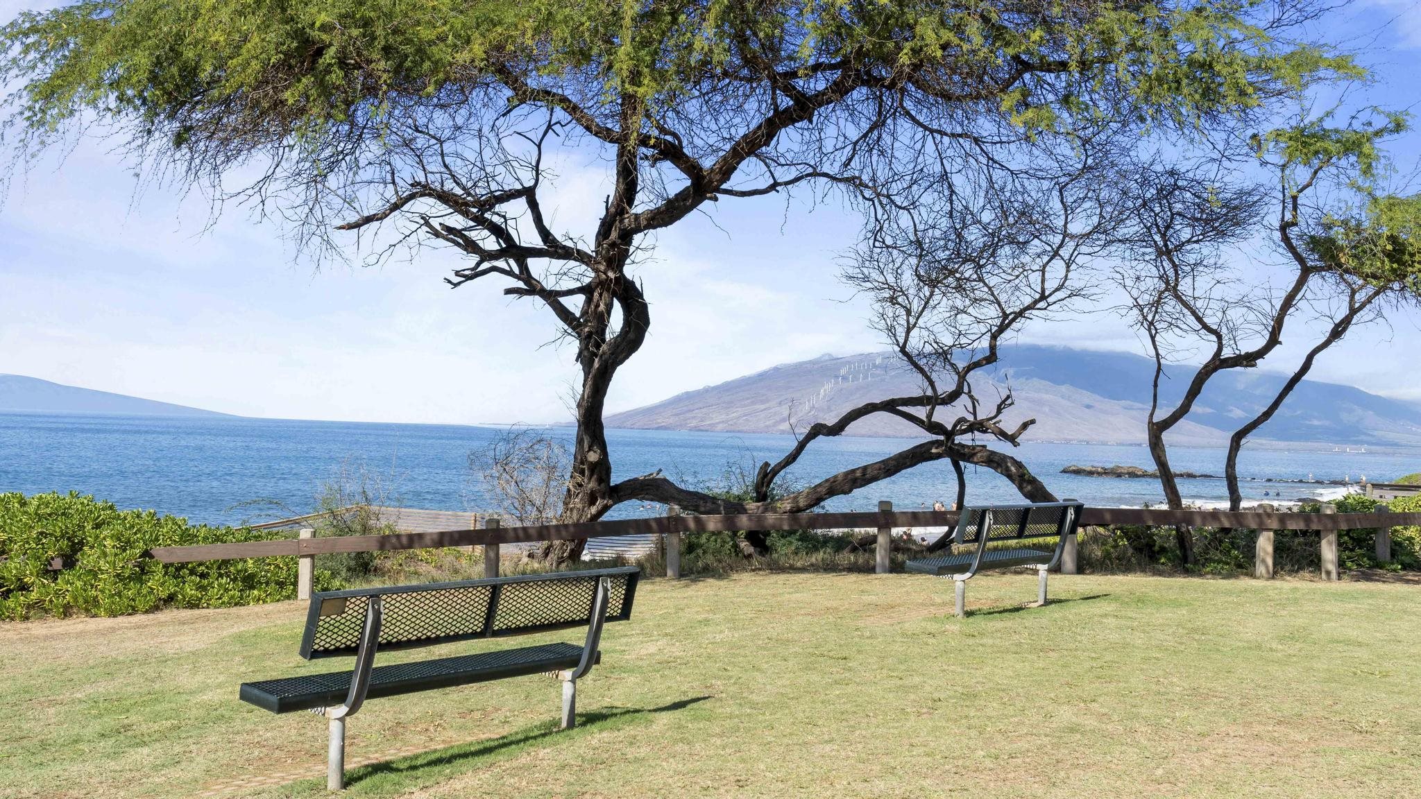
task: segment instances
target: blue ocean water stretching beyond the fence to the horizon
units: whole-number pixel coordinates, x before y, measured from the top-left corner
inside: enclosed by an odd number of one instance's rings
[[[193,522],[254,523],[311,512],[323,483],[342,471],[364,471],[387,502],[405,508],[479,510],[489,508],[483,486],[469,468],[502,431],[465,425],[314,422],[247,418],[156,418],[0,414],[0,492],[91,493],[121,508],[153,509]],[[568,436],[570,431],[551,431]],[[732,465],[777,459],[791,445],[787,435],[720,432],[610,431],[615,478],[662,469],[685,485],[712,486]],[[884,458],[909,439],[824,439],[810,446],[787,472],[809,485],[841,469]],[[1013,452],[1057,496],[1091,505],[1138,506],[1162,500],[1152,479],[1063,475],[1071,465],[1151,468],[1142,446],[1025,444]],[[1175,448],[1179,471],[1222,473],[1223,451]],[[1239,472],[1249,500],[1299,496],[1334,498],[1334,486],[1265,483],[1262,478],[1384,482],[1421,471],[1421,452],[1326,452],[1252,448]],[[1202,505],[1226,499],[1223,481],[1181,481],[1185,496]],[[1268,492],[1268,498],[1265,493]],[[1279,498],[1275,492],[1280,492]],[[888,481],[831,499],[830,510],[872,510],[880,499],[894,508],[951,503],[952,468],[928,463]],[[988,469],[968,466],[968,502],[1010,502],[1019,495]],[[659,508],[624,505],[611,518],[658,513]]]

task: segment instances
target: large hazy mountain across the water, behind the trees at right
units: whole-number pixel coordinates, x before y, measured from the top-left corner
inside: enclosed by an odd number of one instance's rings
[[[1142,442],[1154,361],[1128,353],[1013,345],[978,395],[995,401],[1010,385],[1016,405],[1006,419],[1034,418],[1034,441]],[[1172,367],[1164,382],[1172,405],[1192,377],[1192,367]],[[1171,441],[1218,446],[1253,417],[1282,387],[1285,375],[1238,370],[1215,375]],[[872,400],[918,392],[918,378],[890,354],[820,355],[782,364],[719,385],[678,394],[655,405],[614,414],[607,427],[789,432],[834,419]],[[881,417],[881,418],[880,418]],[[870,417],[850,428],[855,435],[915,435],[917,428],[891,417]],[[1421,407],[1358,388],[1303,381],[1259,439],[1320,444],[1421,445]]]

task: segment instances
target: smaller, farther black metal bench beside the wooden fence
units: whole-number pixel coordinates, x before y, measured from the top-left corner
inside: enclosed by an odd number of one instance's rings
[[[1046,604],[1046,573],[1060,562],[1066,536],[1076,533],[1081,508],[1084,503],[1073,500],[965,508],[958,516],[952,542],[971,549],[909,560],[905,567],[908,572],[952,577],[959,618],[966,616],[966,581],[985,569],[1036,567],[1040,574],[1037,601]],[[1050,546],[1044,539],[1053,537],[1057,540]]]

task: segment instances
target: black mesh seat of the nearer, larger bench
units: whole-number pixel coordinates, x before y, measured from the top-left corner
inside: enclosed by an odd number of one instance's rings
[[[493,653],[422,660],[375,667],[367,698],[394,697],[573,668],[583,647],[556,643]],[[335,707],[345,701],[351,672],[334,671],[242,684],[242,701],[271,712]]]

